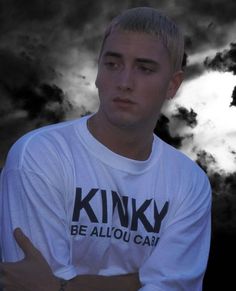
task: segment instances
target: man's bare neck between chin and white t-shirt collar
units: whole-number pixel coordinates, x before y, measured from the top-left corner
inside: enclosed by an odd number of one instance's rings
[[[121,156],[144,161],[151,154],[152,130],[118,127],[103,122],[97,114],[88,120],[88,129],[99,142]]]

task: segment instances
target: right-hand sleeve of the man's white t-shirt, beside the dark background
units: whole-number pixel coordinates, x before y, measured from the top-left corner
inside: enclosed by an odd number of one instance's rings
[[[211,236],[211,187],[205,175],[178,205],[139,270],[140,291],[200,291]]]

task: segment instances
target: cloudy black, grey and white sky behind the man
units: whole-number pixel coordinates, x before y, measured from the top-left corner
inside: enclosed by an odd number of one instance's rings
[[[235,0],[0,0],[0,167],[29,130],[96,111],[103,31],[137,6],[169,15],[186,40],[185,82],[164,106],[156,132],[204,168],[213,220],[235,231]]]

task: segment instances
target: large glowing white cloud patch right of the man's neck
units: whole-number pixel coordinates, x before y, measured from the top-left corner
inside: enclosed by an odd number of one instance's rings
[[[183,84],[178,97],[166,109],[170,116],[177,106],[192,108],[197,113],[194,129],[185,128],[179,134],[193,133],[191,143],[182,150],[192,158],[196,151],[211,153],[218,166],[225,171],[235,171],[236,163],[231,151],[236,151],[236,107],[230,107],[236,76],[230,73],[207,72]],[[172,131],[174,124],[170,124]]]

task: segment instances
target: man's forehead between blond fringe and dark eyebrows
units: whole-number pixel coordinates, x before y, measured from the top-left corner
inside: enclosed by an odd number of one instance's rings
[[[123,57],[147,58],[156,61],[169,58],[162,41],[157,36],[144,32],[113,31],[105,40],[102,55],[108,51],[119,53]]]

